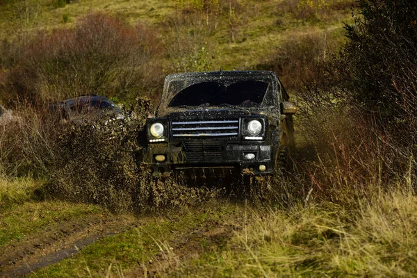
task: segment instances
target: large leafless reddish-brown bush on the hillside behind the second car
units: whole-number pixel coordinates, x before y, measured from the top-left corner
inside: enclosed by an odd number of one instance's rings
[[[19,49],[3,86],[10,101],[105,95],[134,101],[161,88],[158,42],[145,26],[90,14],[74,29],[40,34]]]

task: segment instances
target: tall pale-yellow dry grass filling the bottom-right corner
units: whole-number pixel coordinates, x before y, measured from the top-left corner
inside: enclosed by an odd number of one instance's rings
[[[393,190],[371,199],[357,211],[322,204],[263,212],[227,250],[185,263],[174,276],[413,276],[416,197]]]

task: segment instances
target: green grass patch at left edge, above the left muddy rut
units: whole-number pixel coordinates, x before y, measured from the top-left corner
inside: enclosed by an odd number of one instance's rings
[[[43,200],[44,181],[31,177],[0,179],[0,247],[38,234],[60,222],[99,215],[103,208],[91,204],[69,204]]]

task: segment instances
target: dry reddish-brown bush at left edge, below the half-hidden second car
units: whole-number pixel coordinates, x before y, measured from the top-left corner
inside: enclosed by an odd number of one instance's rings
[[[47,174],[54,161],[58,117],[31,107],[0,118],[0,174],[35,177]]]

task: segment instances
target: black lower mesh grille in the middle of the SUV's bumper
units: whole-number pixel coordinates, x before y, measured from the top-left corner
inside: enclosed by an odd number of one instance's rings
[[[221,141],[186,140],[183,150],[189,163],[214,162],[222,160],[224,145]]]

